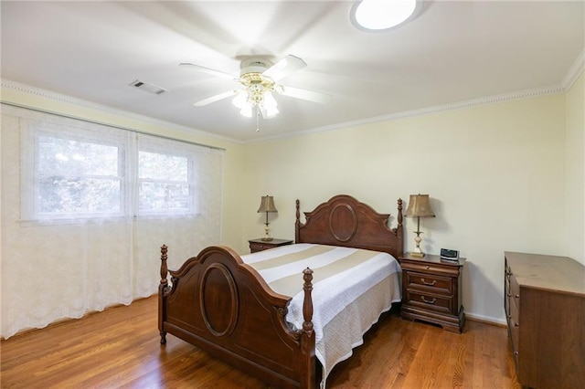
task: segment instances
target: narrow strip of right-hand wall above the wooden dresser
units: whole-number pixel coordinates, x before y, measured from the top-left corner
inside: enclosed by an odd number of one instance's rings
[[[567,255],[585,265],[585,76],[566,95]],[[585,282],[585,280],[583,280]]]

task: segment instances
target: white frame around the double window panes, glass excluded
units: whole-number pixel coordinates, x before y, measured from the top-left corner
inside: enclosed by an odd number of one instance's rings
[[[33,224],[69,224],[118,221],[122,219],[169,219],[197,217],[197,150],[194,144],[146,135],[135,131],[88,123],[90,128],[27,119],[21,123],[22,202],[21,220]],[[40,212],[39,138],[53,137],[118,147],[120,212],[46,213]],[[140,210],[139,152],[178,156],[187,160],[188,209]],[[80,176],[81,178],[82,176]],[[88,176],[85,176],[88,177]]]

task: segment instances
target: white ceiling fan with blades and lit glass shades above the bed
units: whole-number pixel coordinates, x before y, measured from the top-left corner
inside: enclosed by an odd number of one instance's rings
[[[275,64],[271,64],[265,58],[244,59],[240,64],[239,77],[190,62],[183,62],[180,65],[190,66],[223,79],[233,79],[238,83],[237,89],[228,90],[195,102],[193,105],[196,107],[203,107],[235,96],[233,103],[240,109],[239,113],[242,115],[251,117],[252,110],[256,110],[257,118],[260,115],[263,118],[271,118],[278,113],[277,102],[272,95],[273,93],[322,104],[331,100],[331,96],[326,93],[293,88],[279,83],[281,79],[307,66],[303,59],[292,55],[282,58]]]

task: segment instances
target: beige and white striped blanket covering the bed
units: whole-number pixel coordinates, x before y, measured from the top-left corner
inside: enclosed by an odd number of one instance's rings
[[[336,363],[351,356],[364,333],[401,298],[400,267],[387,253],[351,247],[296,244],[241,257],[277,293],[291,296],[286,320],[303,327],[303,269],[314,270],[315,356],[322,387]]]

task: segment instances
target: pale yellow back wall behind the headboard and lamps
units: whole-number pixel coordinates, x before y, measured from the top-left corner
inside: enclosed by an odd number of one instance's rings
[[[431,195],[437,217],[421,220],[422,248],[468,258],[469,316],[504,322],[504,251],[566,255],[565,105],[548,95],[258,142],[245,148],[244,237],[260,237],[260,196],[279,209],[274,237],[293,238],[302,209],[354,195],[396,215],[396,199]],[[394,220],[392,220],[394,222]],[[406,249],[416,222],[406,219]]]

